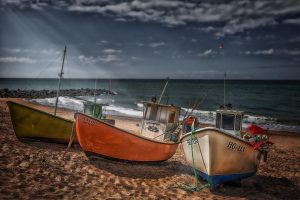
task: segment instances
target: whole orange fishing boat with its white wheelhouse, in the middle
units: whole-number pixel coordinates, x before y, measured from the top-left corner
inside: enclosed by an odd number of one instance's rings
[[[177,127],[180,108],[155,102],[144,102],[144,108],[146,109],[140,134],[76,113],[76,134],[82,149],[85,152],[118,160],[139,162],[168,160],[179,145]],[[161,132],[163,137],[160,135]]]

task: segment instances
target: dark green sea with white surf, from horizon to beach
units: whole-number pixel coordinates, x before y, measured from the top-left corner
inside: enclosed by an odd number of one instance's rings
[[[166,82],[161,103],[181,107],[181,118],[198,102],[192,114],[200,122],[213,125],[215,111],[225,100],[233,109],[245,112],[244,127],[255,123],[270,130],[300,133],[300,81],[226,80],[224,84],[223,80],[63,79],[61,89],[111,90],[114,95],[96,94],[97,102],[108,104],[105,113],[142,117],[142,102],[153,97],[159,99]],[[57,79],[0,79],[0,89],[56,90],[57,87]],[[81,112],[84,101],[80,99],[93,101],[94,96],[61,96],[58,106]],[[55,98],[30,101],[53,106]]]

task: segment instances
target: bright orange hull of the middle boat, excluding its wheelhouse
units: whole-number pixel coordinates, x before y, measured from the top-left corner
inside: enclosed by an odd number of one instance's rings
[[[76,113],[75,118],[82,149],[104,157],[140,162],[164,161],[175,154],[179,145],[135,135],[81,113]]]

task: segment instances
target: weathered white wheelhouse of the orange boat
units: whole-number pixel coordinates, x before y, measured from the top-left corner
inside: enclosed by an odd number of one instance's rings
[[[145,137],[161,141],[177,141],[180,107],[143,102],[143,122],[141,134]]]

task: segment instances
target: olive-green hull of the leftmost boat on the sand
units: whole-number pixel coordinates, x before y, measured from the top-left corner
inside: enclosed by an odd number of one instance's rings
[[[18,138],[68,143],[73,122],[22,104],[7,102],[11,121]],[[75,134],[76,135],[76,134]],[[75,136],[74,142],[77,142]]]

